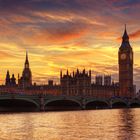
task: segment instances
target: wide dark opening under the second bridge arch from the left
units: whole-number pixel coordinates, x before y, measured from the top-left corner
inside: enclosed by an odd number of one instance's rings
[[[79,110],[81,103],[74,99],[52,99],[45,102],[45,110]]]

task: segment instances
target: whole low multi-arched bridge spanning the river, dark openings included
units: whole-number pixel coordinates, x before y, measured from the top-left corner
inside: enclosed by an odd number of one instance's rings
[[[97,98],[91,96],[66,96],[50,94],[1,93],[0,111],[13,108],[16,111],[80,110],[103,108],[140,107],[140,99],[120,97]]]

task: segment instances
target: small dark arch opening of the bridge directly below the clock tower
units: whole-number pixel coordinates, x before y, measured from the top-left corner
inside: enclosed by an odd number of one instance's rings
[[[126,108],[126,107],[128,107],[128,103],[123,99],[117,98],[111,102],[111,106],[112,106],[112,108]]]

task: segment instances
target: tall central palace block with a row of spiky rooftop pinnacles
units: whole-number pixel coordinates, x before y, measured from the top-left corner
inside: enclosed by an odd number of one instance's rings
[[[84,95],[90,93],[91,87],[91,70],[86,72],[85,69],[80,72],[78,69],[72,74],[60,74],[60,85],[62,94],[66,95]]]

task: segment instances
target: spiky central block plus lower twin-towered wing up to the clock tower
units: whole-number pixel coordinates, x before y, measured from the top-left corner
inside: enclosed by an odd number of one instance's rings
[[[70,96],[95,96],[95,97],[113,97],[118,96],[119,87],[117,84],[111,83],[111,76],[99,75],[95,77],[95,83],[91,82],[91,70],[88,72],[79,71],[72,74],[60,73],[61,93]],[[104,83],[104,84],[103,84]]]

